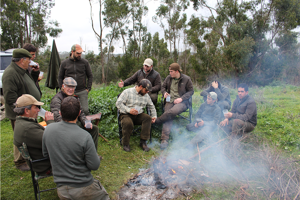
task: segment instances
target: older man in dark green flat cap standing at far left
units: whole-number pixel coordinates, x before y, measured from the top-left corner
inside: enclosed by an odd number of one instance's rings
[[[4,70],[2,76],[5,115],[10,119],[13,130],[16,122],[16,113],[13,112],[15,106],[13,103],[15,103],[22,94],[30,94],[35,97],[36,100],[41,100],[40,91],[35,85],[40,74],[40,69],[38,67],[29,73],[28,67],[31,61],[30,58],[32,58],[32,55],[25,49],[13,50],[11,63]],[[16,146],[13,148],[13,156],[13,161],[17,169],[20,169],[21,171],[29,170],[29,167]]]

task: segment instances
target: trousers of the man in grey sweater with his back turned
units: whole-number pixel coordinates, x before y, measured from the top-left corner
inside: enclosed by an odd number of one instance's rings
[[[86,187],[71,187],[62,185],[57,188],[57,194],[61,200],[84,199],[84,200],[109,200],[105,188],[97,179]]]

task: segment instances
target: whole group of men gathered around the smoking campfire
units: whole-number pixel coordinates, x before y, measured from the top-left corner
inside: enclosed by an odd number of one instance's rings
[[[61,90],[52,98],[51,112],[46,111],[46,130],[37,122],[40,106],[44,104],[38,85],[39,66],[29,72],[29,62],[35,58],[35,52],[36,48],[30,44],[24,45],[24,49],[15,49],[12,62],[2,77],[6,116],[14,130],[16,168],[29,170],[28,160],[24,160],[17,150],[17,146],[26,143],[33,160],[49,159],[34,164],[33,170],[39,175],[53,173],[60,199],[87,199],[91,194],[94,199],[109,199],[104,187],[91,175],[91,170],[98,169],[102,157],[97,154],[98,126],[85,128],[93,74],[88,61],[81,58],[84,51],[75,44],[71,47],[69,58],[61,62],[58,75]],[[147,140],[151,124],[163,124],[160,147],[167,148],[174,117],[190,108],[189,100],[194,93],[191,78],[182,74],[177,63],[170,64],[168,69],[170,75],[161,83],[160,74],[153,69],[152,59],[147,58],[143,67],[132,77],[119,82],[119,87],[138,83],[125,89],[116,101],[121,113],[122,145],[125,151],[131,151],[129,143],[134,125],[142,126],[140,147],[143,151],[149,151]],[[155,104],[159,91],[165,98],[165,109],[157,117]],[[187,124],[187,130],[197,132],[197,135],[187,148],[194,147],[216,130],[223,116],[222,110],[231,107],[228,88],[217,81],[212,82],[201,95],[205,103],[200,106],[194,122]],[[144,113],[145,107],[149,108],[150,115]],[[238,86],[238,96],[224,118],[220,126],[234,136],[254,129],[256,104],[248,95],[246,84]]]

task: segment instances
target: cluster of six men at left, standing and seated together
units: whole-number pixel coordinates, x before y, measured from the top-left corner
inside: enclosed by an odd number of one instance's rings
[[[26,50],[28,46],[30,49]],[[6,116],[14,131],[16,168],[29,170],[29,161],[17,149],[25,143],[33,160],[48,158],[33,163],[32,168],[41,176],[53,174],[60,199],[110,199],[100,181],[91,174],[91,170],[99,168],[102,157],[97,154],[98,126],[85,128],[88,109],[83,111],[81,105],[87,104],[93,76],[88,61],[80,58],[82,48],[73,45],[69,58],[62,61],[58,76],[61,90],[52,98],[51,112],[46,111],[46,130],[37,121],[40,106],[44,104],[40,102],[39,65],[29,73],[35,52],[31,44],[15,49],[12,62],[2,76]],[[81,95],[83,103],[76,94]]]

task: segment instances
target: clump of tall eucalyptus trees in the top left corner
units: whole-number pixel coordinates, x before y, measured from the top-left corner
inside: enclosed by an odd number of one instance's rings
[[[1,50],[32,43],[45,47],[48,39],[62,32],[56,20],[50,20],[54,0],[1,0]]]

